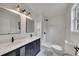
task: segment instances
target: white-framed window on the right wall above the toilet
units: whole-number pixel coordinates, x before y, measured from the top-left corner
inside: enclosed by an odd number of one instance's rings
[[[71,9],[71,31],[79,32],[79,4]]]

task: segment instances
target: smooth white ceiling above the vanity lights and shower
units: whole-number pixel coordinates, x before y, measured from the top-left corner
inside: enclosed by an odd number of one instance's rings
[[[15,3],[15,4],[0,3],[0,6],[15,8],[17,4],[18,3]],[[51,18],[51,17],[64,15],[67,11],[68,3],[26,3],[26,4],[21,3],[20,5],[21,5],[21,8],[23,7],[26,10],[30,8],[36,13],[40,13],[43,16]]]

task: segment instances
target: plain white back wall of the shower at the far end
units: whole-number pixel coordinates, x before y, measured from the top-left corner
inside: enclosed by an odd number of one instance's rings
[[[64,45],[65,40],[65,17],[58,16],[48,21],[47,42]]]

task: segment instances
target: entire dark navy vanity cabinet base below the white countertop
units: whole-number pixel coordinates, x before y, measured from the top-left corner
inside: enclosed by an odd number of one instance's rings
[[[2,56],[36,56],[40,51],[40,38]]]

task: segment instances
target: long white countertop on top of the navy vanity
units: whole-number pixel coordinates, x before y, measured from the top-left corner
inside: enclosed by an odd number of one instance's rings
[[[34,40],[37,40],[40,37],[27,37],[20,40],[15,40],[13,43],[5,43],[0,45],[0,55],[3,55],[7,52],[10,52],[14,49],[17,49],[23,45],[26,45]]]

